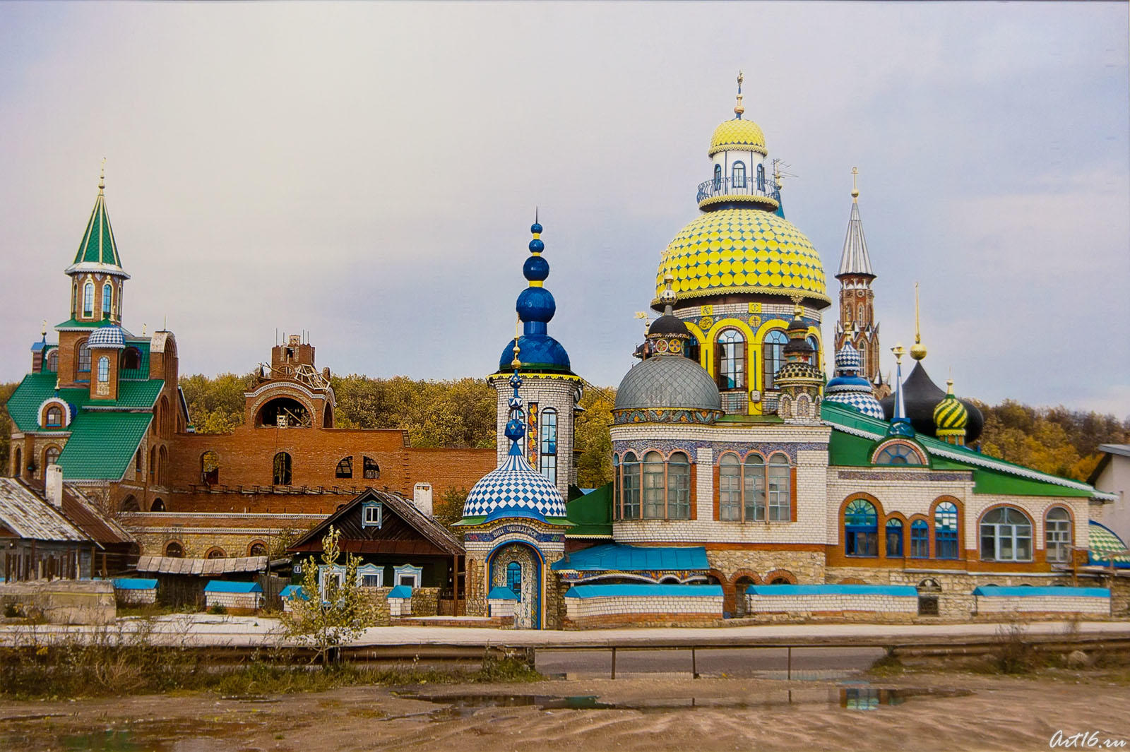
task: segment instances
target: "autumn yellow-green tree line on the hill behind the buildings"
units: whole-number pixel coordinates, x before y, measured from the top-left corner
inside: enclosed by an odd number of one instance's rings
[[[243,422],[243,393],[254,386],[253,374],[182,376],[181,387],[195,430],[224,434]],[[414,447],[489,448],[495,445],[497,397],[481,378],[372,378],[357,374],[333,376],[338,428],[407,429]],[[5,404],[16,384],[0,384]],[[594,488],[611,480],[611,440],[616,390],[586,386],[577,414],[575,448],[579,484]],[[985,426],[981,451],[1035,470],[1085,481],[1098,464],[1099,444],[1130,443],[1130,417],[1058,408],[1033,408],[1012,400],[998,405],[977,403]],[[0,466],[7,467],[11,425],[0,420]]]

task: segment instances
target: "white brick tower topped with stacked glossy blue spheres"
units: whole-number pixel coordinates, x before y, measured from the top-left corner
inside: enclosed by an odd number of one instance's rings
[[[505,461],[511,451],[506,438],[510,422],[511,392],[510,376],[515,370],[513,348],[522,353],[516,370],[521,373],[522,396],[527,405],[524,434],[525,458],[534,470],[541,472],[568,498],[570,484],[576,484],[576,464],[573,461],[574,417],[580,411],[582,379],[570,368],[565,348],[548,333],[548,323],[557,312],[554,296],[545,287],[549,277],[549,262],[542,256],[546,244],[541,239],[541,225],[530,227],[530,255],[522,265],[522,274],[529,281],[518,296],[514,306],[521,331],[498,359],[498,370],[489,377],[498,394],[498,462]]]

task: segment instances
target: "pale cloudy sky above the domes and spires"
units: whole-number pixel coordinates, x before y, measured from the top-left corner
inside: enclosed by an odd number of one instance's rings
[[[740,69],[833,299],[859,167],[885,370],[919,281],[939,384],[1128,417],[1128,8],[0,3],[0,382],[68,318],[105,157],[123,323],[182,374],[307,331],[334,373],[485,376],[537,207],[549,333],[615,385]]]

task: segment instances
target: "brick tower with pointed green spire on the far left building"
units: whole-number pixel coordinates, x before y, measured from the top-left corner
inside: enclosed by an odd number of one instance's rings
[[[113,326],[116,334],[107,335],[106,342],[116,347],[121,340],[122,287],[130,278],[122,269],[118,255],[118,243],[106,211],[106,169],[103,159],[98,176],[98,195],[94,200],[90,219],[79,243],[75,261],[64,271],[71,278],[70,317],[55,326],[59,332],[59,376],[64,386],[103,384],[97,396],[113,399],[116,387],[106,386],[116,382],[118,353],[103,353],[107,367],[103,368],[98,381],[97,360],[87,347],[87,336],[98,329]],[[92,343],[93,344],[93,343]],[[113,371],[112,374],[110,371]],[[98,392],[97,388],[94,390]]]

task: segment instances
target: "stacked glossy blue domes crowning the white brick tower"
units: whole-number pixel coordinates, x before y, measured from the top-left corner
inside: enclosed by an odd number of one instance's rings
[[[530,227],[533,239],[530,241],[530,257],[522,265],[522,274],[530,282],[530,286],[518,296],[514,306],[518,317],[522,322],[522,334],[518,339],[518,346],[522,350],[521,370],[548,371],[558,374],[572,374],[568,353],[560,342],[551,338],[548,333],[547,324],[557,313],[557,303],[553,294],[544,287],[546,278],[549,277],[549,262],[542,257],[546,244],[542,242],[541,225],[534,222]],[[511,368],[511,347],[513,340],[506,343],[498,358],[498,370],[505,371]]]

